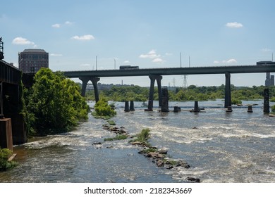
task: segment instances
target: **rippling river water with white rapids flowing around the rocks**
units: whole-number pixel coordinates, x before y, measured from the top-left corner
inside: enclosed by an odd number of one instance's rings
[[[138,154],[141,148],[130,145],[129,139],[104,142],[114,134],[102,129],[105,120],[90,115],[73,132],[14,147],[18,166],[0,172],[0,182],[188,182],[187,177],[201,182],[275,182],[275,117],[264,115],[262,101],[244,103],[257,104],[253,113],[246,107],[226,113],[223,101],[199,102],[205,113],[184,111],[191,110],[193,102],[169,103],[184,106],[180,113],[159,113],[157,108],[145,112],[141,103],[125,113],[123,103],[116,103],[112,120],[118,127],[130,135],[149,128],[150,144],[168,149],[169,158],[185,160],[189,169],[157,167]]]

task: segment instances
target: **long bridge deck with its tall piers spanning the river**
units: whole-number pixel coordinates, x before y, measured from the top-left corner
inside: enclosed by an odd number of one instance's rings
[[[275,72],[275,62],[269,65],[234,65],[234,66],[211,66],[211,67],[192,67],[192,68],[146,68],[146,69],[126,69],[126,70],[84,70],[63,72],[66,77],[79,78],[82,80],[82,96],[85,96],[87,82],[91,81],[94,86],[95,100],[99,101],[97,82],[100,77],[130,77],[130,76],[149,76],[150,91],[148,110],[152,110],[154,98],[154,82],[157,80],[159,92],[159,106],[161,106],[161,79],[162,75],[225,75],[225,99],[224,108],[231,106],[231,74],[236,73],[260,73]]]

